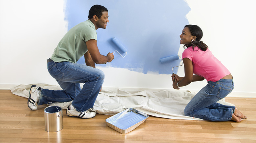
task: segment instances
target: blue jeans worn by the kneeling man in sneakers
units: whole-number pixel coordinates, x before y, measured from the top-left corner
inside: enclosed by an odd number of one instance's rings
[[[49,102],[70,102],[78,112],[93,107],[104,82],[103,71],[72,62],[48,62],[48,71],[63,90],[42,89],[38,105]],[[81,90],[80,84],[84,83]]]

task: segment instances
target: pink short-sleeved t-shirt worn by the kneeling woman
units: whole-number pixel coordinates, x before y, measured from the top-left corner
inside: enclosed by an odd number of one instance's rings
[[[193,64],[193,73],[204,77],[207,81],[218,81],[230,74],[230,71],[207,49],[202,51],[188,47],[182,53],[182,58],[189,58]],[[197,51],[198,50],[198,51]]]

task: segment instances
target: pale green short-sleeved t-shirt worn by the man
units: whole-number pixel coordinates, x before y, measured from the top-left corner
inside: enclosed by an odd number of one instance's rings
[[[86,41],[97,40],[95,25],[84,21],[71,28],[54,49],[51,59],[54,62],[69,61],[76,63],[87,51]]]

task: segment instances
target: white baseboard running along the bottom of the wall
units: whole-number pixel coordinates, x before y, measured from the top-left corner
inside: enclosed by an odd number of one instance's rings
[[[0,84],[0,89],[6,89],[10,90],[13,87],[18,86],[18,84]],[[160,88],[134,88],[134,87],[102,87],[102,88],[121,88],[121,89],[137,89],[137,90],[154,90],[154,91],[160,91],[160,90],[166,90],[166,91],[177,91],[175,89],[160,89]],[[188,90],[182,90],[179,91],[188,91]],[[189,90],[192,93],[197,93],[197,90]],[[236,92],[232,91],[227,97],[240,97],[240,98],[256,98],[256,92]]]

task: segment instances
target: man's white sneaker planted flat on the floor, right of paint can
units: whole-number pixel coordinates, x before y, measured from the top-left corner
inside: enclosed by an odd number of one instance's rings
[[[75,110],[75,107],[72,104],[70,104],[67,109],[67,115],[71,116],[71,117],[89,119],[89,118],[93,118],[95,116],[95,114],[96,113],[94,111],[90,112],[88,110],[86,110],[84,112],[78,112]]]

